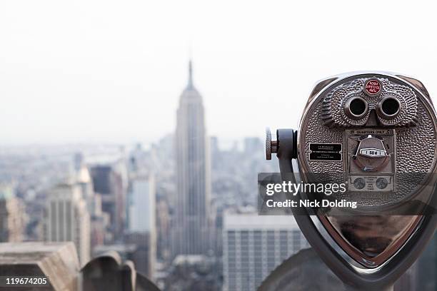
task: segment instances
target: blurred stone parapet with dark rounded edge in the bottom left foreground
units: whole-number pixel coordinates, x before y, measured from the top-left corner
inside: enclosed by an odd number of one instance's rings
[[[0,243],[0,276],[45,276],[46,287],[0,287],[0,290],[159,291],[130,260],[110,251],[82,269],[73,242]]]

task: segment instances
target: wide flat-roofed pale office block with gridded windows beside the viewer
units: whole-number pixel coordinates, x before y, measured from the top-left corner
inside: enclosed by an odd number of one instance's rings
[[[290,255],[309,247],[293,216],[223,215],[223,291],[256,290]]]

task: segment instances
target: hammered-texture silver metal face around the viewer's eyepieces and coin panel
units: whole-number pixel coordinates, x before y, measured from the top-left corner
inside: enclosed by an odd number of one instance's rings
[[[343,152],[343,161],[311,161],[308,160],[309,143],[344,143],[346,128],[366,128],[368,118],[376,114],[378,100],[385,96],[393,96],[401,102],[401,112],[391,120],[376,116],[381,123],[376,128],[394,128],[396,131],[396,173],[403,173],[403,178],[411,173],[411,177],[397,183],[396,192],[391,195],[350,195],[338,194],[336,198],[356,200],[364,207],[389,205],[408,198],[423,183],[423,176],[416,173],[433,172],[436,152],[436,126],[433,121],[433,112],[425,105],[426,100],[420,97],[413,88],[398,80],[389,80],[379,77],[383,84],[379,96],[368,96],[363,93],[363,84],[373,76],[349,78],[340,81],[333,88],[326,91],[306,108],[306,114],[301,122],[299,153],[301,161],[305,163],[303,169],[309,173],[338,173],[331,175],[331,183],[341,183],[340,173],[347,173],[348,161],[346,151]],[[360,96],[368,102],[369,110],[360,120],[348,118],[343,110],[343,104],[348,98]],[[319,175],[318,178],[321,176]],[[332,180],[333,178],[337,180]],[[327,180],[328,182],[328,180]]]

